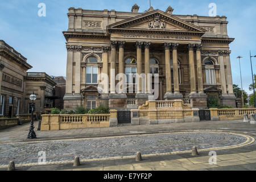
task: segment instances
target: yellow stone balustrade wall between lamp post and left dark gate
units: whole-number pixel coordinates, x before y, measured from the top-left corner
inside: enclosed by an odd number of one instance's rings
[[[110,114],[43,114],[41,130],[112,126],[117,126],[117,110],[110,110]]]

